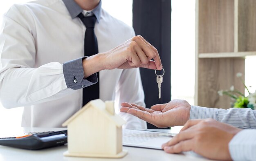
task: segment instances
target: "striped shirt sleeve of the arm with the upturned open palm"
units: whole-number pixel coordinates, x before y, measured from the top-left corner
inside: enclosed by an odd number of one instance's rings
[[[190,119],[212,118],[238,128],[256,128],[256,110],[251,108],[206,108],[191,106]]]

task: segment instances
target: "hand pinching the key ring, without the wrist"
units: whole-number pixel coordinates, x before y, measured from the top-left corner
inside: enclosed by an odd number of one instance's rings
[[[103,53],[105,69],[149,68],[162,70],[157,49],[138,35]],[[153,60],[155,61],[153,61]]]

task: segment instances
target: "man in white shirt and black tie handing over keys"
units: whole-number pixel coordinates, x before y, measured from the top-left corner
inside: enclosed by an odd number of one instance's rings
[[[99,54],[84,57],[86,28],[80,13],[97,18]],[[100,71],[99,98],[115,100],[116,111],[127,121],[124,128],[146,128],[145,121],[119,108],[122,101],[145,105],[135,67],[161,70],[159,54],[101,9],[100,0],[15,4],[0,31],[0,101],[5,108],[25,106],[23,127],[61,127],[82,107],[82,88],[97,83]]]

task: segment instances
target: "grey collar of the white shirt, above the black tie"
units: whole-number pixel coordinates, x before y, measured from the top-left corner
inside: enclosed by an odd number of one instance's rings
[[[76,18],[79,13],[83,12],[83,9],[74,0],[63,0],[67,10],[70,12],[72,19]],[[99,23],[101,17],[101,0],[97,7],[92,10],[92,13],[96,16]]]

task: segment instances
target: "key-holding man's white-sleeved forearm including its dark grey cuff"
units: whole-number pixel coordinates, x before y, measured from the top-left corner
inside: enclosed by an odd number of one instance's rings
[[[96,74],[83,79],[82,59],[64,64],[52,62],[38,68],[3,68],[0,70],[2,104],[5,108],[39,104],[64,97],[74,92],[72,89],[95,84]]]

